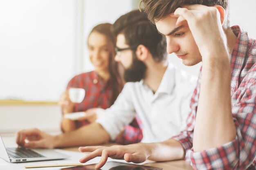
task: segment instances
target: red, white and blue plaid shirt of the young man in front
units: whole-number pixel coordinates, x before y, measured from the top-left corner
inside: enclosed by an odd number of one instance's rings
[[[256,158],[256,40],[249,38],[239,26],[231,27],[238,37],[230,56],[231,104],[236,126],[236,138],[217,148],[193,151],[193,129],[198,107],[201,71],[191,99],[187,127],[173,137],[186,150],[185,159],[195,169],[229,170],[255,169]]]

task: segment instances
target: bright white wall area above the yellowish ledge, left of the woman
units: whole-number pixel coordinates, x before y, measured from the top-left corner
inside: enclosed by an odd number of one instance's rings
[[[58,100],[74,55],[73,0],[0,0],[0,99]]]

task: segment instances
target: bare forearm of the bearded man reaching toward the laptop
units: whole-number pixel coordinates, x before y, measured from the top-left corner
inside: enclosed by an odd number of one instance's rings
[[[108,132],[98,123],[83,126],[54,137],[54,148],[102,144],[110,140]]]

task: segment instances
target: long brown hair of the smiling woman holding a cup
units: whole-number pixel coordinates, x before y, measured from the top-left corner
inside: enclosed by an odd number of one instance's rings
[[[106,36],[109,50],[110,50],[110,56],[109,56],[109,64],[108,64],[108,71],[110,73],[110,85],[112,89],[112,100],[111,104],[114,104],[115,100],[117,99],[117,96],[121,92],[123,88],[123,82],[121,80],[121,76],[118,72],[118,63],[115,62],[115,44],[116,44],[116,37],[111,31],[112,24],[110,23],[103,23],[99,24],[97,26],[94,26],[92,31],[90,32],[89,36],[93,32],[101,33]]]

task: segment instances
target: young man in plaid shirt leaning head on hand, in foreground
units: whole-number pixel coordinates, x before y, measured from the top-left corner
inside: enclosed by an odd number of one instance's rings
[[[186,159],[195,169],[255,169],[256,40],[229,26],[228,0],[142,0],[185,65],[202,62],[186,129],[161,143],[81,147],[81,162],[101,155],[140,163]],[[96,150],[97,149],[97,150]]]

